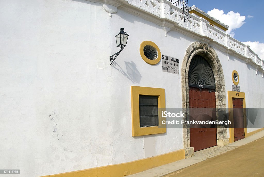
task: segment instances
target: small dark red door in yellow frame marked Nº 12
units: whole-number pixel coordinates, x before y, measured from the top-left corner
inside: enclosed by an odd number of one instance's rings
[[[235,141],[245,138],[243,99],[233,98],[234,136]]]

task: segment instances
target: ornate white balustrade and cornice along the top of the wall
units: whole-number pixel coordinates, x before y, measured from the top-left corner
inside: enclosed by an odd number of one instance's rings
[[[196,17],[190,14],[190,18],[184,21],[183,11],[170,1],[167,0],[86,0],[91,2],[98,2],[103,4],[110,4],[116,7],[122,8],[124,11],[131,13],[135,16],[139,16],[146,20],[152,21],[159,26],[163,26],[165,36],[171,30],[178,30],[182,33],[194,36],[196,39],[210,43],[214,42],[216,45],[220,45],[220,48],[224,48],[228,53],[237,54],[239,58],[250,63],[264,72],[263,60],[254,53],[248,45],[232,38],[230,35],[225,34],[224,31],[217,29],[209,24],[204,18]],[[194,7],[192,7],[194,8]],[[205,12],[198,8],[195,10],[200,11],[204,15]],[[115,12],[114,12],[115,13]],[[206,17],[214,20],[224,27],[227,25],[219,22],[208,14]]]

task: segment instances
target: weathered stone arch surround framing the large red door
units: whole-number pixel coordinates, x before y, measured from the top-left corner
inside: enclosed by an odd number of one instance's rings
[[[225,81],[224,73],[220,60],[215,50],[208,44],[201,42],[194,42],[188,46],[185,57],[182,61],[181,81],[182,81],[182,108],[190,108],[189,103],[189,83],[188,73],[192,58],[195,55],[203,57],[210,65],[215,78],[215,106],[216,108],[226,108],[225,100]],[[224,120],[224,114],[216,111],[216,120]],[[190,117],[186,117],[189,121]],[[217,127],[217,145],[225,146],[229,143],[227,138],[227,128]],[[190,146],[190,126],[183,127],[183,146],[184,148]]]

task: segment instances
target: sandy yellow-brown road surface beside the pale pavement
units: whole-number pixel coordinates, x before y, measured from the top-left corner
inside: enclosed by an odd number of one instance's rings
[[[264,177],[264,137],[166,177]]]

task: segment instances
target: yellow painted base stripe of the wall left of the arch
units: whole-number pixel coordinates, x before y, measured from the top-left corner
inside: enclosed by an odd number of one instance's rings
[[[72,171],[56,175],[42,177],[123,177],[124,172],[128,175],[139,173],[157,166],[165,165],[185,158],[184,149],[169,152],[166,154],[140,159],[132,162],[126,162],[116,165],[96,167],[86,170]]]

